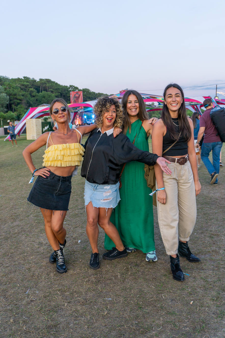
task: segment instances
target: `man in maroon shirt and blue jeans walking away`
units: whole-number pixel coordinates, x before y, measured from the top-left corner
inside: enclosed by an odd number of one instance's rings
[[[200,128],[195,147],[199,147],[199,142],[203,134],[205,134],[201,147],[201,159],[211,176],[210,184],[217,185],[217,176],[220,171],[220,150],[223,143],[221,142],[217,129],[210,117],[210,111],[213,108],[213,101],[211,99],[205,99],[203,101],[203,105],[206,110],[204,114],[200,117]],[[213,152],[213,164],[209,161],[208,158],[211,150]]]

